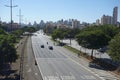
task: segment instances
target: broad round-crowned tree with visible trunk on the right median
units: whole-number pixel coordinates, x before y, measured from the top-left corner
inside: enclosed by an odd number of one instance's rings
[[[92,49],[91,58],[93,58],[93,50],[106,46],[109,37],[106,36],[101,30],[84,30],[76,36],[79,45],[85,48]]]

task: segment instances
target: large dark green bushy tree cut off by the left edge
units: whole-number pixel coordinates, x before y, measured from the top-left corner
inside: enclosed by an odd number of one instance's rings
[[[13,43],[7,39],[7,35],[0,35],[0,65],[15,62],[18,58]]]

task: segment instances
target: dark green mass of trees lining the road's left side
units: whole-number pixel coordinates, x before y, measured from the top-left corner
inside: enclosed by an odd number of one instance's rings
[[[5,26],[0,25],[0,69],[4,64],[13,63],[17,60],[15,43],[24,32],[35,32],[34,27],[23,27],[12,32],[6,32]]]

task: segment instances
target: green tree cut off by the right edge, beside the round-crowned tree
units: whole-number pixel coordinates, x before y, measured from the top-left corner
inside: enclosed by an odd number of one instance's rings
[[[109,42],[108,49],[108,54],[112,60],[120,62],[120,33]]]

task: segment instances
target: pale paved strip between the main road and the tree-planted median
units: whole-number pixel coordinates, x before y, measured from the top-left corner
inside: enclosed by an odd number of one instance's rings
[[[77,54],[74,54],[71,51],[64,50],[62,47],[59,48],[59,50],[62,50],[65,55],[69,56],[70,58],[81,64],[81,66],[83,66],[85,69],[99,76],[103,80],[120,80],[120,77],[118,78],[115,74],[105,71],[99,66],[90,67],[89,61],[87,59],[83,57],[79,58],[77,57]]]

